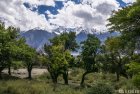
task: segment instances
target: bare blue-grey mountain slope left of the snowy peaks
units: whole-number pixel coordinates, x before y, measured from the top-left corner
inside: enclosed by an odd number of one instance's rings
[[[28,45],[39,51],[45,43],[49,44],[49,39],[56,36],[56,34],[44,30],[29,30],[22,33],[21,36],[26,39],[26,43]]]

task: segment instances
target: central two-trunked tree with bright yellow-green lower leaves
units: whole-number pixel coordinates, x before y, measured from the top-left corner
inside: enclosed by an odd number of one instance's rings
[[[44,47],[48,58],[47,69],[55,83],[58,76],[63,74],[65,84],[68,84],[68,68],[72,67],[74,62],[70,51],[78,47],[75,38],[74,32],[63,33],[51,39],[51,45]]]

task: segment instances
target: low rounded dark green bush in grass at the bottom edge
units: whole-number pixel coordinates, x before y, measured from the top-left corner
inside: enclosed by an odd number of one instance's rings
[[[88,94],[113,94],[114,89],[108,84],[98,83],[89,89]]]

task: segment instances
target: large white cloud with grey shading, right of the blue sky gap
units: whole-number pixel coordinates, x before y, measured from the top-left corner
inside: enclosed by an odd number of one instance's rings
[[[57,15],[49,15],[49,21],[64,27],[84,27],[97,30],[106,29],[107,18],[119,4],[116,0],[83,0],[82,4],[72,1],[64,3]]]

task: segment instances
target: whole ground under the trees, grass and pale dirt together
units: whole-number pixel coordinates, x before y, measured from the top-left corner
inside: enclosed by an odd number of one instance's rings
[[[111,89],[114,93],[109,94],[119,94],[115,93],[115,91],[118,92],[119,89],[136,89],[131,79],[121,77],[120,81],[117,82],[116,75],[111,73],[88,74],[85,78],[85,87],[80,87],[80,81],[84,70],[79,68],[70,69],[69,85],[64,85],[62,75],[58,78],[58,84],[54,85],[47,69],[34,68],[32,71],[32,80],[25,79],[27,77],[26,69],[19,69],[18,71],[12,70],[12,76],[6,74],[7,70],[3,72],[4,79],[0,80],[0,94],[94,94],[88,92],[90,90],[97,92],[100,89],[102,91]]]

